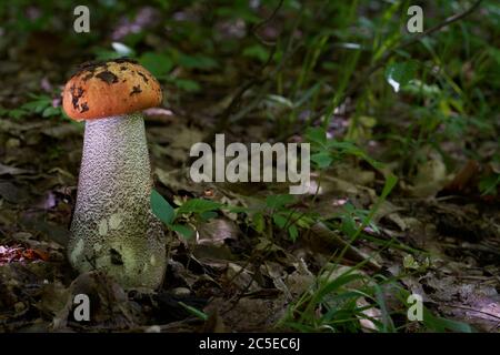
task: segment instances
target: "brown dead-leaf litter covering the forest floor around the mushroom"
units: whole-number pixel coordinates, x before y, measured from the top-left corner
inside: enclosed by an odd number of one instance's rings
[[[14,109],[27,102],[28,92],[50,97],[54,88],[61,88],[70,63],[57,50],[49,55],[46,50],[42,42],[29,43],[16,60],[1,60],[0,106]],[[270,194],[286,194],[288,187],[278,183],[190,181],[189,150],[216,126],[221,102],[231,98],[220,91],[216,79],[201,78],[204,93],[180,105],[173,102],[147,112],[156,190],[173,205],[197,197],[244,209],[259,205]],[[252,90],[258,92],[259,85]],[[59,98],[51,99],[60,106]],[[272,142],[276,130],[261,120],[267,109],[260,105],[226,128],[227,142]],[[346,133],[348,115],[336,115],[333,135]],[[356,297],[356,305],[364,308],[351,314],[363,331],[373,329],[371,321],[382,320],[386,312],[398,329],[429,328],[406,320],[401,290],[421,295],[434,316],[480,332],[500,329],[500,203],[498,195],[481,195],[477,190],[474,179],[484,169],[482,163],[462,159],[449,172],[429,151],[414,176],[402,176],[389,196],[380,199],[387,171],[348,156],[321,174],[313,171],[312,185],[320,187],[287,205],[318,216],[300,226],[294,240],[272,226],[271,214],[264,214],[263,223],[271,224],[264,233],[249,223],[248,214],[224,210],[209,221],[187,220],[197,230],[194,239],[166,227],[168,270],[162,287],[151,294],[124,292],[98,272],[78,275],[67,261],[82,141],[83,125],[67,119],[39,113],[20,119],[0,115],[2,332],[297,331],[294,322],[310,322],[298,316],[307,308],[307,295],[314,293],[322,278],[334,280],[351,266],[362,276],[362,285],[352,281],[343,291],[380,282],[378,301],[373,301],[377,293],[373,298]],[[300,141],[300,134],[289,141]],[[380,158],[387,144],[378,141],[367,151]],[[483,142],[481,148],[488,154],[498,149],[498,141]],[[370,211],[374,213],[366,225],[362,221]],[[350,240],[349,227],[361,227],[362,233]],[[78,293],[90,295],[90,322],[76,322],[72,316]],[[324,301],[312,313],[329,307]],[[327,329],[312,323],[307,329]],[[457,324],[450,328],[457,331]]]

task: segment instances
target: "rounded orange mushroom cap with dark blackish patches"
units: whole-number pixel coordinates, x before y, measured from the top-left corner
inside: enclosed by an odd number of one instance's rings
[[[142,111],[161,101],[158,81],[130,59],[83,64],[62,93],[62,108],[76,121]]]

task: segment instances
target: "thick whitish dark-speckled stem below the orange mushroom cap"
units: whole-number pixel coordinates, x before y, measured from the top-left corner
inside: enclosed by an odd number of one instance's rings
[[[103,270],[126,288],[156,288],[163,278],[161,222],[140,114],[88,120],[68,246],[80,272]]]

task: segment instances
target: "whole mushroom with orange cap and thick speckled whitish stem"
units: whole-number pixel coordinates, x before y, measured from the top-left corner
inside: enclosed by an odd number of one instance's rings
[[[158,106],[158,81],[136,61],[83,64],[68,81],[63,109],[86,120],[77,203],[68,244],[80,272],[102,270],[124,288],[157,288],[166,245],[150,209],[151,169],[140,113]]]

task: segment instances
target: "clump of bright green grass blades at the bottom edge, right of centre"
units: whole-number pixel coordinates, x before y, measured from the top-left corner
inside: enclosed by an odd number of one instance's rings
[[[328,264],[310,288],[289,307],[278,326],[299,332],[394,333],[418,322],[408,320],[407,313],[412,306],[408,303],[410,293],[400,286],[398,278],[368,276],[360,267],[361,264],[342,268]],[[383,290],[390,290],[399,307],[389,310]],[[473,332],[463,322],[436,316],[426,305],[422,305],[418,327],[423,332]]]

